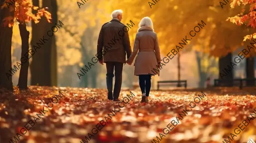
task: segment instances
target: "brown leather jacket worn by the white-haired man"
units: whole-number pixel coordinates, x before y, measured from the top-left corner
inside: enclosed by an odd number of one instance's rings
[[[126,54],[128,59],[131,55],[128,27],[125,27],[119,20],[112,19],[105,23],[99,32],[96,56],[98,59],[102,59],[103,56],[104,63],[125,63]]]

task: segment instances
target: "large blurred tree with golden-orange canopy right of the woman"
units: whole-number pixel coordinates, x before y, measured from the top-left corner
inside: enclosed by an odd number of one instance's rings
[[[113,5],[119,9],[129,5],[128,11],[125,11],[124,14],[128,13],[129,18],[135,19],[136,23],[142,17],[151,17],[154,29],[158,34],[160,49],[165,55],[175,48],[175,45],[181,42],[185,36],[191,37],[189,32],[194,30],[198,23],[202,24],[201,20],[203,20],[206,26],[190,41],[190,44],[193,45],[191,50],[219,57],[219,71],[227,68],[227,63],[231,62],[231,53],[245,44],[241,40],[243,39],[242,35],[251,31],[247,27],[238,27],[228,23],[227,17],[238,14],[240,10],[231,10],[228,4],[222,5],[219,0],[199,0],[196,3],[193,0],[168,0],[158,1],[156,4],[123,0],[113,3]],[[138,11],[138,9],[141,10]],[[188,47],[185,46],[183,49],[186,48]],[[226,85],[231,85],[233,73],[229,73],[224,79]]]

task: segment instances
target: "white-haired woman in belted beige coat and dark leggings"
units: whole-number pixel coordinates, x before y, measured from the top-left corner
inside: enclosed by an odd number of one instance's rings
[[[161,61],[157,34],[154,32],[153,23],[149,17],[143,17],[140,21],[134,42],[134,49],[131,56],[126,60],[126,63],[131,65],[136,54],[134,75],[139,76],[139,84],[142,92],[141,102],[148,102],[151,88],[151,74],[159,75],[158,63]],[[158,70],[156,72],[153,69]]]

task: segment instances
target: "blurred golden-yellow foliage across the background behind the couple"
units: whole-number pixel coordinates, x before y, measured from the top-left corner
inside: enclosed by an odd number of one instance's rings
[[[41,0],[40,0],[41,1]],[[250,33],[246,26],[236,26],[227,17],[232,17],[240,13],[240,9],[231,9],[229,6],[223,9],[219,5],[219,0],[165,0],[158,1],[151,7],[148,1],[142,0],[90,0],[81,6],[77,5],[79,0],[57,0],[58,20],[64,23],[63,28],[56,32],[58,53],[63,53],[64,57],[58,57],[59,66],[73,65],[81,62],[81,45],[87,43],[82,38],[87,29],[93,29],[93,34],[99,34],[101,26],[111,20],[111,12],[115,9],[122,9],[122,23],[135,25],[129,29],[130,41],[133,46],[137,33],[138,24],[143,17],[151,17],[154,30],[158,35],[160,49],[163,54],[167,54],[185,36],[189,36],[189,31],[193,30],[198,23],[203,20],[207,25],[191,40],[191,49],[208,53],[211,56],[221,57],[228,52],[235,51],[237,47],[243,45],[244,37]],[[36,9],[36,7],[34,7]],[[11,17],[10,17],[11,18]],[[31,28],[28,27],[31,38]],[[90,35],[87,35],[90,36]],[[253,35],[256,38],[256,35]],[[31,40],[31,39],[29,39]],[[13,29],[13,43],[20,45],[20,35],[18,26]],[[87,51],[96,52],[95,42],[87,46]],[[13,46],[20,48],[20,46]],[[185,49],[189,49],[186,46]],[[96,53],[95,53],[96,54]],[[94,55],[95,55],[94,54]],[[94,55],[91,55],[92,58]]]

